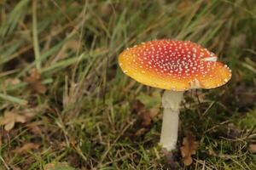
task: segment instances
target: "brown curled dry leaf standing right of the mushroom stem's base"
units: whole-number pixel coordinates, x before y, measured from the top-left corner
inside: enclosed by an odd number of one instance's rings
[[[183,163],[189,166],[192,163],[192,155],[195,155],[197,150],[198,142],[195,141],[195,137],[188,133],[186,137],[183,138],[183,146],[180,147],[181,154],[183,156]]]

